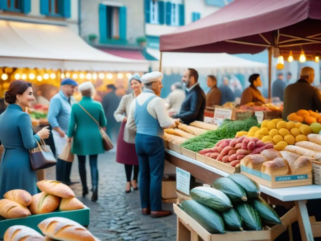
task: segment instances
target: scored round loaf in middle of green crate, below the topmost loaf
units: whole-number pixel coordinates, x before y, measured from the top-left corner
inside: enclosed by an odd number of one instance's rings
[[[59,206],[60,198],[47,192],[40,192],[32,196],[29,210],[32,214],[44,214],[55,211]]]

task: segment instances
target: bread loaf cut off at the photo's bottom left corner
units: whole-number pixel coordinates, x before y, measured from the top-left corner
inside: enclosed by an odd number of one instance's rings
[[[23,225],[8,228],[3,237],[4,241],[45,241],[45,237],[36,230]]]

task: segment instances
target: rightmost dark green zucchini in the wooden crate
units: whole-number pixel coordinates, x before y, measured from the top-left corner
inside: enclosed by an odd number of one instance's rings
[[[257,197],[256,199],[253,199],[251,205],[263,222],[268,224],[282,224],[280,217],[263,198]]]

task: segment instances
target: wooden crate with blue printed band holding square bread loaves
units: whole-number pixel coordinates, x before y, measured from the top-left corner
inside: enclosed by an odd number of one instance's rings
[[[298,175],[270,176],[241,165],[241,173],[269,188],[298,187],[312,184],[312,172]]]

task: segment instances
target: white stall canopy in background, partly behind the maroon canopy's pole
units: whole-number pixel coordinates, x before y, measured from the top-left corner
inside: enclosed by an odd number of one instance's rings
[[[152,57],[160,59],[158,49],[147,49]],[[230,73],[263,73],[266,74],[267,66],[225,53],[162,53],[162,72],[165,74],[183,74],[187,68],[195,68],[203,75],[216,75],[218,70]],[[159,61],[152,61],[152,70],[159,70]]]

